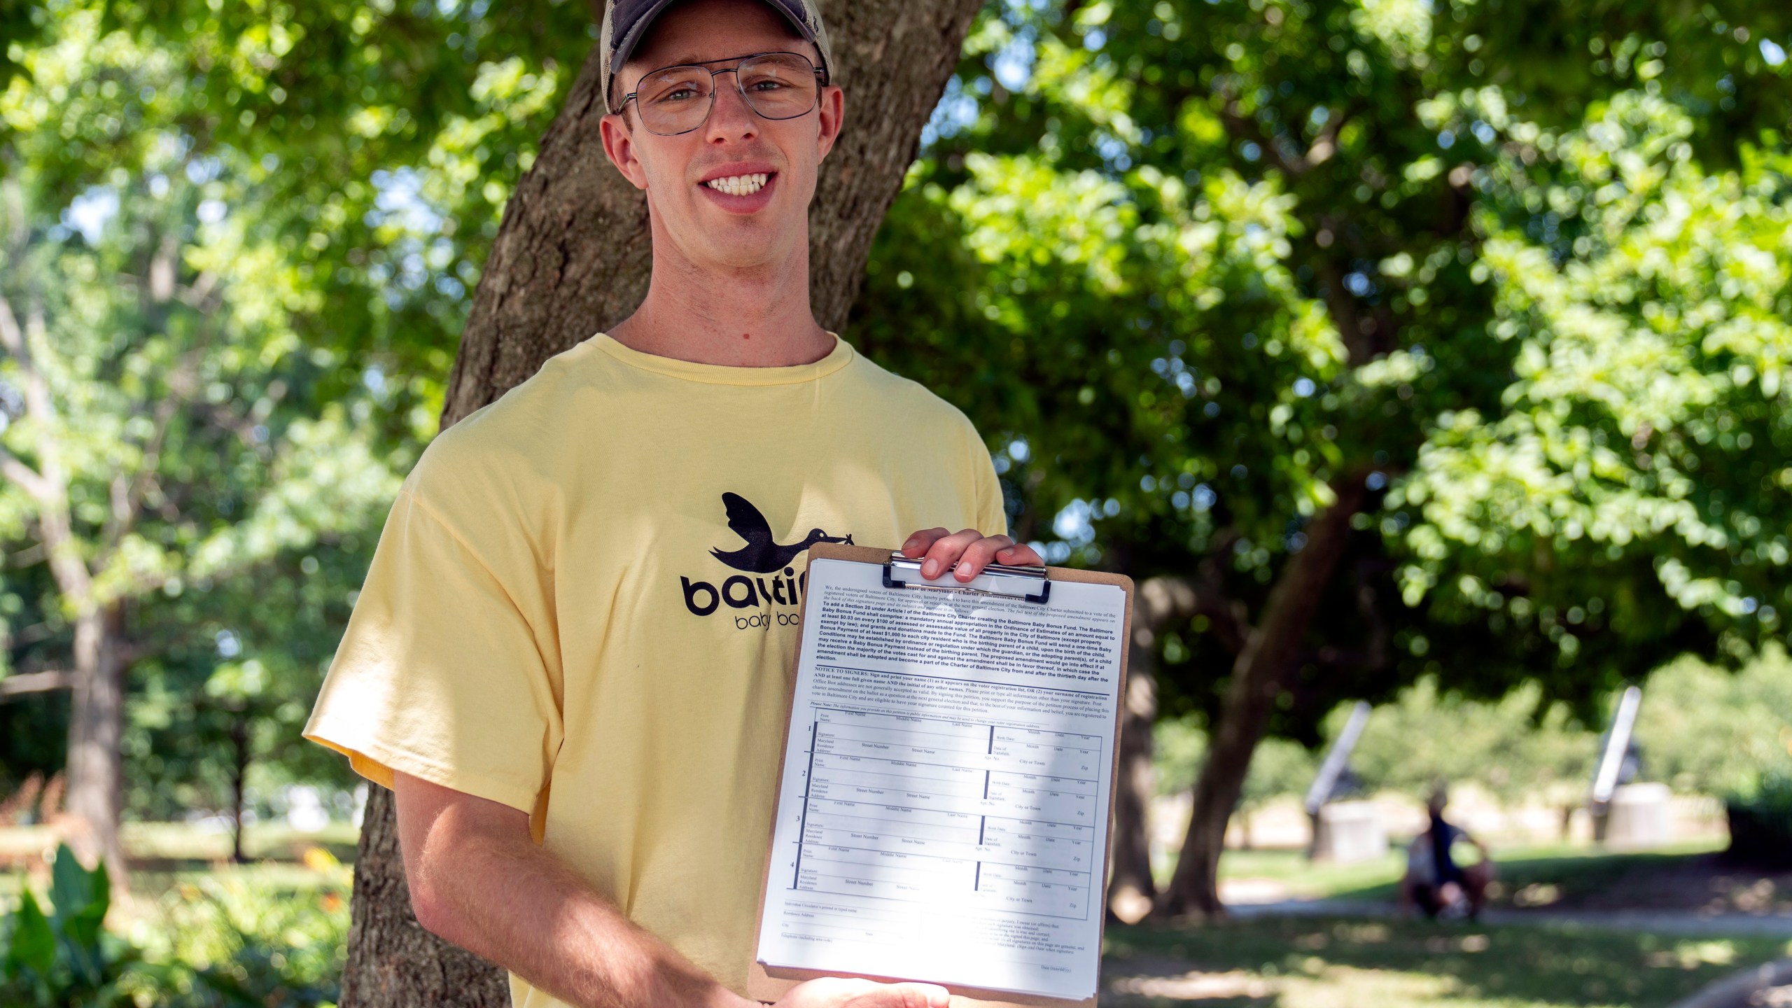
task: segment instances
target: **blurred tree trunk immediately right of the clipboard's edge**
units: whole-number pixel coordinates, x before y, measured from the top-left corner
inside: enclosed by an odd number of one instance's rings
[[[1172,619],[1188,619],[1195,594],[1186,583],[1152,578],[1133,599],[1125,712],[1120,721],[1120,780],[1115,786],[1115,863],[1107,879],[1107,915],[1134,924],[1150,913],[1158,884],[1150,877],[1150,728],[1158,721],[1158,637]]]

